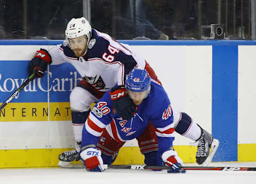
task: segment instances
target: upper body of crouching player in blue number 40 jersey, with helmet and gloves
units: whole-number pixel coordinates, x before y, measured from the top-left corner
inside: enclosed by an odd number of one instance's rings
[[[103,163],[111,164],[110,156],[101,156],[101,148],[97,148],[99,138],[104,129],[111,138],[122,143],[139,137],[151,122],[155,127],[158,151],[155,157],[145,154],[147,165],[166,164],[169,172],[185,172],[181,158],[173,149],[174,127],[172,107],[165,90],[157,81],[151,79],[146,70],[133,69],[127,76],[126,90],[120,94],[111,91],[103,95],[90,112],[83,128],[82,148],[80,156],[88,171],[103,171]],[[127,95],[137,107],[131,119],[123,119],[115,112],[112,100]],[[150,156],[148,158],[148,156]],[[103,158],[103,159],[102,159]]]

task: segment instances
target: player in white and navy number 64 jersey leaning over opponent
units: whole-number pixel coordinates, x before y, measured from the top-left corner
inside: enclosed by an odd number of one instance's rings
[[[82,129],[90,112],[91,103],[98,102],[116,83],[118,84],[115,88],[116,93],[122,90],[125,76],[133,68],[145,69],[151,78],[160,81],[149,64],[129,45],[118,43],[109,35],[92,29],[85,18],[71,19],[65,35],[63,44],[57,45],[49,52],[45,49],[36,52],[29,64],[29,72],[36,70],[36,76],[43,77],[48,64],[67,62],[72,64],[83,77],[70,94],[76,148],[59,156],[60,161],[71,162],[79,160]],[[124,119],[131,119],[136,112],[135,105],[127,97],[119,98],[118,101],[113,102],[113,106]],[[213,139],[210,133],[199,127],[186,113],[173,111],[173,115],[175,131],[198,143],[196,162],[209,163],[218,148],[218,140]],[[150,140],[147,136],[138,139],[139,143],[147,140]],[[210,148],[213,148],[212,152]]]

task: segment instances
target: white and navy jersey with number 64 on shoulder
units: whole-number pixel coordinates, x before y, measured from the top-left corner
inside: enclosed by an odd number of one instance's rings
[[[146,61],[126,44],[120,44],[109,35],[92,29],[87,53],[77,58],[67,42],[50,51],[52,64],[70,63],[78,73],[99,91],[124,85],[127,74],[135,67],[145,69]]]

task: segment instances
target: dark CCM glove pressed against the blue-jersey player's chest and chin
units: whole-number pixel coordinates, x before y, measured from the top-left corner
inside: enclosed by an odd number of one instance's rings
[[[136,107],[131,98],[127,95],[125,86],[113,87],[110,91],[112,106],[115,111],[125,120],[133,118]]]

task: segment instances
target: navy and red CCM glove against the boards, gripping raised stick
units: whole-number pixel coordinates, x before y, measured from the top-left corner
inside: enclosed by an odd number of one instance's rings
[[[48,51],[41,48],[36,52],[34,58],[30,61],[28,70],[29,76],[36,71],[36,77],[41,78],[44,76],[44,72],[48,64],[52,63],[51,55]]]

